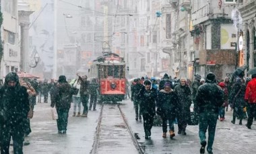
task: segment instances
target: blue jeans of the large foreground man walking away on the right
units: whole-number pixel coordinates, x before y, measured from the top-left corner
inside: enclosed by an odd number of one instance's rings
[[[199,138],[201,142],[206,140],[205,133],[208,129],[207,151],[212,151],[217,119],[218,119],[218,113],[214,113],[214,112],[199,113]]]

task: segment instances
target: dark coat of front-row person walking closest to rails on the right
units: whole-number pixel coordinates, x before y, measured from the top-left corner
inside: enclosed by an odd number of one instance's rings
[[[157,100],[157,92],[155,88],[151,88],[150,90],[146,90],[143,86],[135,99],[139,100],[140,108],[142,114],[156,114],[156,100]]]

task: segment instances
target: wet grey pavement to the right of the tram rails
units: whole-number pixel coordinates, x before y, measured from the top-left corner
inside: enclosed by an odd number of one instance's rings
[[[130,100],[123,101],[121,109],[125,113],[133,133],[139,138],[138,142],[144,153],[199,153],[201,146],[199,145],[198,125],[188,126],[187,135],[178,135],[178,127],[174,125],[176,133],[174,139],[169,137],[162,138],[162,127],[153,127],[151,139],[146,140],[144,139],[143,122],[135,121],[133,102]],[[233,125],[230,123],[231,117],[232,112],[228,111],[226,120],[223,122],[218,121],[213,152],[220,154],[255,153],[256,122],[254,122],[252,129],[249,130],[245,127],[246,120],[243,120],[243,125],[238,125],[238,121],[236,121],[236,125]],[[207,152],[205,151],[205,153]]]

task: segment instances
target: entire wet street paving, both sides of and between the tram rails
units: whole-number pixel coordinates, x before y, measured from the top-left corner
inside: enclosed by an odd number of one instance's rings
[[[186,136],[176,134],[174,139],[168,137],[163,139],[162,127],[153,127],[151,139],[145,140],[142,121],[135,121],[133,102],[124,100],[120,106],[132,133],[137,136],[137,141],[143,153],[199,153],[198,126],[188,126]],[[51,119],[50,104],[38,103],[35,106],[34,117],[31,120],[32,133],[26,137],[30,145],[24,146],[24,153],[91,153],[94,147],[101,106],[98,104],[96,108],[96,111],[89,111],[88,118],[71,117],[73,114],[73,104],[71,104],[67,134],[59,135],[57,133],[57,123]],[[120,137],[120,139],[118,135],[113,133],[113,138],[111,139],[115,142],[109,144],[112,140],[106,136],[106,131],[102,131],[100,134],[100,138],[104,139],[102,144],[104,145],[106,141],[109,142],[104,147],[105,152],[100,153],[116,153],[115,148],[121,151],[119,153],[137,153],[134,151],[135,147],[131,145],[129,135],[125,131],[126,129],[121,127],[123,123],[119,119],[120,117],[115,116],[113,108],[108,107],[105,109],[107,109],[107,114],[103,115],[102,124],[105,125],[105,129],[103,130],[111,129],[111,125],[113,124],[120,126],[115,127],[115,129],[113,128],[113,131],[121,131],[123,137]],[[245,127],[246,120],[243,121],[243,125],[233,125],[230,123],[231,114],[232,112],[228,111],[226,120],[224,122],[218,121],[213,152],[222,154],[255,153],[256,122],[254,122],[251,130]],[[109,117],[114,117],[116,120],[109,121]],[[177,133],[177,125],[175,125],[175,131]],[[118,143],[119,139],[120,142]],[[125,148],[126,145],[130,148]]]

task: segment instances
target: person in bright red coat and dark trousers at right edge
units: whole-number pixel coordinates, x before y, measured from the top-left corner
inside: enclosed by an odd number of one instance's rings
[[[256,114],[256,74],[252,75],[252,80],[247,84],[245,91],[245,102],[247,102],[249,109],[246,126],[248,129],[251,129],[251,125],[253,125],[253,118]]]

